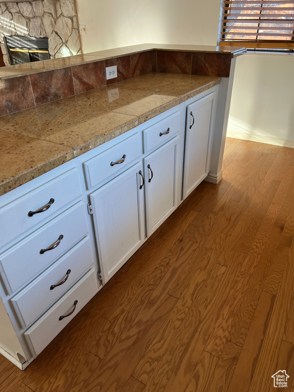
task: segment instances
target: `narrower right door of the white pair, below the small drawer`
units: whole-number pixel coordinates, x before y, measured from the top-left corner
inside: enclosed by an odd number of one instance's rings
[[[177,207],[178,143],[177,136],[144,158],[148,237]]]

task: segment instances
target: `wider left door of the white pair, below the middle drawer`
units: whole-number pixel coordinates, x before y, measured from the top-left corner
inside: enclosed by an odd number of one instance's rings
[[[145,239],[144,191],[139,171],[142,173],[141,163],[90,195],[104,283]]]

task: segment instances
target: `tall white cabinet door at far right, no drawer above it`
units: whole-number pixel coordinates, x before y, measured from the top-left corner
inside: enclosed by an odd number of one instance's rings
[[[215,92],[187,107],[183,199],[209,172]]]

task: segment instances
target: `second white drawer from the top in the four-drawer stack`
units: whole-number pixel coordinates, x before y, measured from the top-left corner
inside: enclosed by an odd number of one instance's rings
[[[0,256],[0,272],[9,293],[52,264],[88,233],[84,203],[80,201]],[[58,246],[50,248],[63,235]]]

